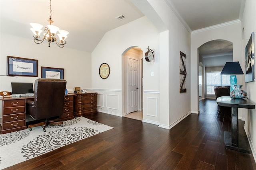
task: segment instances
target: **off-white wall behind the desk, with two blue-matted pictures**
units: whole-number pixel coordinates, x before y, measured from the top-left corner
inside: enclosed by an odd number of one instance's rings
[[[3,21],[1,21],[1,25],[8,27],[8,23]],[[60,48],[55,43],[51,43],[51,47],[48,47],[48,42],[36,44],[31,34],[26,39],[10,35],[3,30],[1,29],[0,32],[0,75],[7,74],[6,56],[13,56],[38,60],[38,77],[0,76],[0,91],[11,91],[11,82],[34,83],[37,78],[41,78],[41,66],[64,68],[64,79],[67,80],[66,87],[70,92],[73,92],[75,86],[80,86],[83,89],[91,88],[90,53],[68,47]],[[22,35],[22,33],[20,34]]]

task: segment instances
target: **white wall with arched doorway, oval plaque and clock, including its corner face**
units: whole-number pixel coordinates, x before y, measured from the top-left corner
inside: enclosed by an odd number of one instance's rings
[[[143,121],[169,129],[191,113],[190,33],[165,1],[148,2],[169,31],[159,32],[154,22],[150,22],[152,20],[146,16],[108,31],[92,52],[92,89],[101,95],[98,98],[100,111],[122,116],[122,54],[133,46],[141,47],[145,53],[150,46],[155,49],[155,62],[144,60]],[[179,93],[180,51],[187,55],[185,93]],[[102,63],[108,63],[111,70],[105,80],[98,75]],[[151,76],[151,72],[154,72],[154,76]],[[111,98],[115,106],[108,107],[107,96],[112,94],[115,96]]]

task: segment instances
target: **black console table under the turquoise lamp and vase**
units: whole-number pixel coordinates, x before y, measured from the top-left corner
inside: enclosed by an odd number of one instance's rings
[[[230,96],[221,96],[217,98],[216,102],[219,106],[232,107],[232,130],[231,132],[224,131],[225,147],[241,152],[249,152],[248,148],[244,148],[238,143],[238,108],[255,109],[255,104],[246,98],[235,99]]]

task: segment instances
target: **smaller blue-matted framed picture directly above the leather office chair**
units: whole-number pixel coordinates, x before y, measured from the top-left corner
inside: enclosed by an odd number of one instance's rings
[[[42,67],[41,78],[64,79],[64,68]]]

